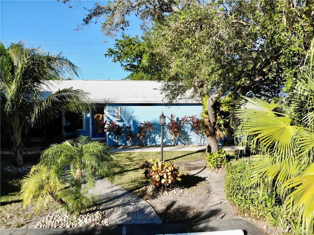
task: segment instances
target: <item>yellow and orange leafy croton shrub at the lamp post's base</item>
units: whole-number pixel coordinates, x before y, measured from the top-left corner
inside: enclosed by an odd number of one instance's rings
[[[181,181],[179,168],[172,162],[160,162],[157,158],[145,159],[141,168],[144,169],[144,175],[148,181],[157,187],[165,185],[166,189],[168,185]]]

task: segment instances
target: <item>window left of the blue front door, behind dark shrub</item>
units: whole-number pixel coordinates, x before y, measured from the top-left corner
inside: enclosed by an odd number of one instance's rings
[[[65,132],[84,131],[84,113],[64,111]]]

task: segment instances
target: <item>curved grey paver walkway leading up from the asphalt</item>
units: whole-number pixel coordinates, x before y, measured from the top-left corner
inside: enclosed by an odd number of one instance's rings
[[[137,195],[98,178],[90,193],[100,196],[100,207],[115,224],[161,224],[162,221],[149,203]]]

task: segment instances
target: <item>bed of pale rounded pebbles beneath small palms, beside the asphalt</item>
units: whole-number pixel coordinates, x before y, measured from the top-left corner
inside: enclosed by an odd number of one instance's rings
[[[93,206],[85,214],[80,214],[73,222],[67,215],[54,213],[33,225],[34,228],[70,228],[78,226],[108,226],[109,218],[99,206]]]

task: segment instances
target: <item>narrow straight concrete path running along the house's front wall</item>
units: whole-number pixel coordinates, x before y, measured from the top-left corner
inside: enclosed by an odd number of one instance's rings
[[[225,146],[226,151],[243,150],[240,146]],[[120,147],[110,148],[111,152],[160,152],[160,147]],[[164,147],[164,151],[206,151],[205,146],[171,146]]]

